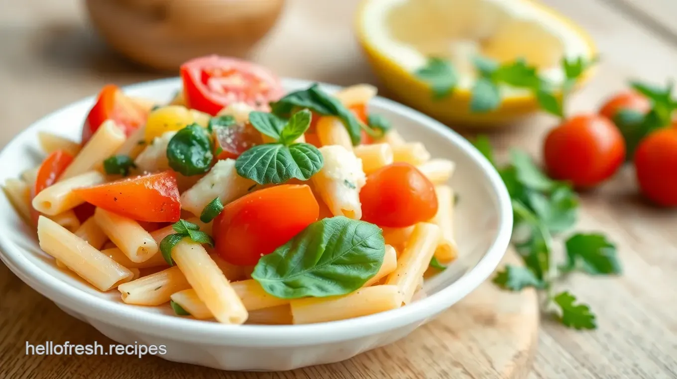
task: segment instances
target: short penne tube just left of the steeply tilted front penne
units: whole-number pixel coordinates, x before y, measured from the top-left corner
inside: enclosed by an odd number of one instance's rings
[[[123,301],[134,305],[160,305],[171,295],[190,288],[179,267],[170,267],[118,286]]]

